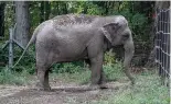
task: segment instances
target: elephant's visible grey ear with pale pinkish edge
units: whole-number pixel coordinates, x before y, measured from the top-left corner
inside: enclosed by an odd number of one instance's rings
[[[114,37],[113,34],[115,34],[115,32],[117,31],[117,27],[118,27],[118,23],[108,23],[108,24],[104,25],[101,28],[104,35],[110,43]]]

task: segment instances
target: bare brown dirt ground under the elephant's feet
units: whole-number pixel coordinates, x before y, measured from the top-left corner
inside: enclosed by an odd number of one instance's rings
[[[108,97],[129,83],[109,82],[108,89],[92,90],[89,85],[51,82],[52,91],[38,91],[32,86],[0,85],[0,104],[89,104]]]

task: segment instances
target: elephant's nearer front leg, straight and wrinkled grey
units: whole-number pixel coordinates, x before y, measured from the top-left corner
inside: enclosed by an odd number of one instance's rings
[[[92,71],[92,85],[104,84],[104,72],[103,72],[103,54],[90,59],[90,71]]]

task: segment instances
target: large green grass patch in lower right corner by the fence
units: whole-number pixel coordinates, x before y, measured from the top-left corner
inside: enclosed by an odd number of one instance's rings
[[[169,89],[159,82],[157,74],[137,76],[135,86],[118,90],[107,100],[93,101],[90,104],[169,104]]]

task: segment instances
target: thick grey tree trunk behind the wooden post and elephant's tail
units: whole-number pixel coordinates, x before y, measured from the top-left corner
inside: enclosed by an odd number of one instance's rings
[[[29,22],[29,2],[15,1],[15,39],[24,47],[29,42],[30,22]]]

